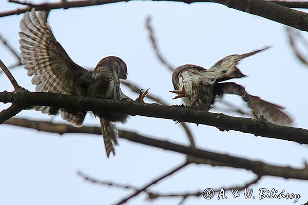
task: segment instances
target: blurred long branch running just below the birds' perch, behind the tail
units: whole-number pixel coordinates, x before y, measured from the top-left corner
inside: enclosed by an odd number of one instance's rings
[[[75,128],[65,124],[54,124],[52,122],[40,122],[35,120],[16,119],[11,118],[5,122],[8,125],[15,125],[25,128],[36,129],[38,131],[45,131],[51,133],[87,133],[96,134],[101,137],[101,130],[99,127],[81,127]],[[179,144],[171,143],[169,141],[153,139],[139,135],[138,133],[120,130],[119,137],[129,141],[137,142],[139,144],[157,147],[164,150],[169,150],[177,153],[185,154],[190,163],[204,163],[211,166],[226,166],[233,168],[240,168],[251,170],[259,176],[279,176],[283,178],[295,178],[308,180],[308,168],[294,169],[290,167],[279,167],[268,165],[261,161],[253,161],[245,158],[229,156],[227,154],[219,154],[209,152],[192,147],[186,147]]]

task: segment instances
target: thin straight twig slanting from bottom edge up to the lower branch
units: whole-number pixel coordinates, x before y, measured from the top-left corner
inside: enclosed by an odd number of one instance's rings
[[[142,187],[141,189],[136,190],[133,194],[129,195],[128,197],[120,200],[120,202],[116,203],[117,205],[126,203],[129,199],[137,196],[138,194],[140,194],[141,192],[145,191],[147,188],[149,188],[152,185],[155,185],[157,182],[161,181],[162,179],[176,173],[177,171],[181,170],[182,168],[186,167],[187,165],[189,165],[189,162],[185,161],[182,165],[176,167],[175,169],[172,169],[171,171],[169,171],[168,173],[158,177],[157,179],[147,183],[147,185],[145,185],[144,187]]]

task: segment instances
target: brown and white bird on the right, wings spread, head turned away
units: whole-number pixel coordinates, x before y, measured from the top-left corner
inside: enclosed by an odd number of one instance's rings
[[[180,66],[172,74],[172,84],[175,90],[170,92],[178,94],[175,98],[181,97],[186,106],[204,111],[214,107],[218,96],[223,94],[239,95],[256,117],[263,115],[268,121],[275,124],[290,126],[293,120],[281,111],[284,109],[283,107],[268,103],[260,97],[249,95],[244,87],[236,83],[220,83],[232,78],[245,77],[246,75],[237,68],[239,61],[267,48],[269,47],[241,55],[226,56],[208,70],[195,65]]]

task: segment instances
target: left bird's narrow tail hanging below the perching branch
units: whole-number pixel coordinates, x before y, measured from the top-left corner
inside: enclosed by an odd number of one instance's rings
[[[114,146],[118,145],[118,129],[117,127],[110,121],[100,117],[101,122],[101,130],[104,138],[105,148],[107,157],[109,157],[112,152],[115,155]]]

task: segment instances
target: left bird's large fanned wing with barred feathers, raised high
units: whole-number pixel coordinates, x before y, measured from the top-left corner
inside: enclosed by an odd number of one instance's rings
[[[32,77],[35,90],[69,95],[84,95],[91,72],[75,64],[56,41],[46,22],[46,11],[26,12],[20,22],[22,63]],[[57,114],[59,108],[36,107],[42,113]],[[86,112],[61,109],[63,119],[81,126]]]

